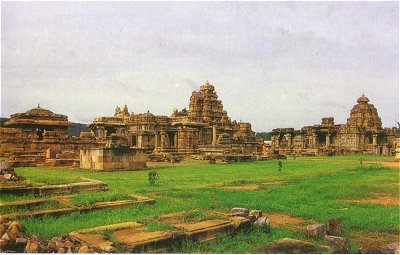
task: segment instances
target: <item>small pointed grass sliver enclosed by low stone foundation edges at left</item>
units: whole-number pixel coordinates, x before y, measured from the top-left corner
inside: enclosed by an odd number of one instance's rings
[[[135,200],[132,196],[115,191],[106,192],[82,192],[71,199],[71,202],[78,205],[92,205],[97,202],[111,202],[116,200]]]

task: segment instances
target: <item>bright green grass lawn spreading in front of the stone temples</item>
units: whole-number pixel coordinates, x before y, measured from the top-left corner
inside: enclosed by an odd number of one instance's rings
[[[364,156],[364,155],[363,155]],[[90,172],[70,168],[17,168],[18,174],[36,183],[66,183],[90,178],[104,181],[110,191],[96,192],[85,203],[102,201],[104,197],[124,198],[136,194],[154,198],[155,205],[132,205],[85,214],[72,213],[60,218],[21,219],[27,234],[43,238],[69,233],[82,228],[125,221],[141,221],[160,214],[189,209],[229,211],[232,207],[262,209],[264,212],[313,219],[326,223],[330,218],[342,221],[343,235],[398,235],[398,204],[353,203],[348,200],[368,199],[384,195],[399,197],[399,171],[383,167],[375,161],[385,157],[360,155],[311,157],[284,160],[282,172],[277,161],[257,161],[212,165],[187,162],[157,168],[156,185],[148,183],[148,171]],[[389,158],[391,159],[391,158]],[[373,161],[373,162],[372,162]],[[276,185],[276,183],[279,185]],[[258,185],[256,190],[229,190],[226,186]],[[97,199],[96,196],[99,198]],[[103,199],[102,199],[103,197]],[[2,197],[2,201],[31,199]],[[346,201],[345,201],[346,200]],[[152,225],[157,229],[157,225]],[[164,225],[159,226],[165,228]],[[282,237],[304,238],[305,230],[290,227],[272,228],[270,233],[252,230],[232,237],[196,244],[188,242],[176,252],[243,253],[257,245]],[[396,240],[393,240],[395,242]],[[354,248],[354,247],[353,247]],[[355,250],[353,250],[355,251]]]

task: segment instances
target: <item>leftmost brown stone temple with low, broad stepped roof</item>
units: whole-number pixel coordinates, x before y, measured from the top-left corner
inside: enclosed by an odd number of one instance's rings
[[[69,136],[70,125],[66,115],[39,105],[13,114],[0,128],[0,156],[10,156],[15,166],[35,166],[46,161],[70,164],[79,158],[81,148],[98,145],[91,132],[81,132],[80,137]]]

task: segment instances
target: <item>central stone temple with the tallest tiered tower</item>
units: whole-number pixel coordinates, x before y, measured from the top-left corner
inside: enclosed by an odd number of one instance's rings
[[[130,147],[154,153],[254,155],[263,143],[249,123],[228,117],[209,82],[192,93],[189,109],[174,109],[171,116],[129,113],[125,105],[113,117],[95,118],[90,127],[100,142],[116,134],[125,136]]]

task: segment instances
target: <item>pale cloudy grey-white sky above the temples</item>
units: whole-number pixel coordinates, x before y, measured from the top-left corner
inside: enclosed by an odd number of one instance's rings
[[[1,116],[172,114],[215,85],[254,131],[399,121],[398,2],[2,2]]]

